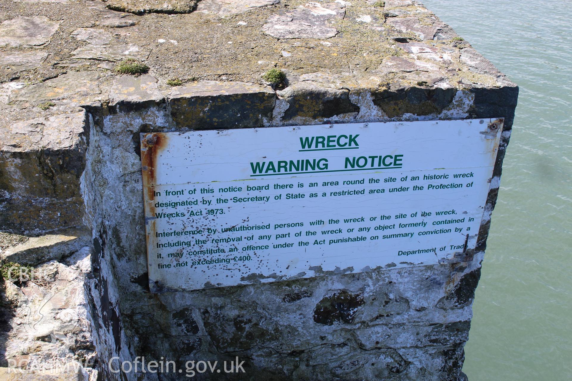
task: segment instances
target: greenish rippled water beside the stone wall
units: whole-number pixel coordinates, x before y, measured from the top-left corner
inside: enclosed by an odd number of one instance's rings
[[[521,89],[463,370],[572,380],[572,2],[423,3]]]

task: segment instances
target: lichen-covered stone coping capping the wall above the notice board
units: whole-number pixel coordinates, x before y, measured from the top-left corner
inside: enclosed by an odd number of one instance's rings
[[[148,70],[118,74],[126,59]],[[279,82],[265,76],[275,69]],[[107,115],[154,107],[134,131],[467,117],[510,126],[517,93],[415,0],[0,0],[0,210],[17,216],[0,227],[81,221],[90,123]]]

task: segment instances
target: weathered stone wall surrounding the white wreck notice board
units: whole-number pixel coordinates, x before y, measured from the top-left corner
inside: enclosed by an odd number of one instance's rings
[[[85,295],[76,305],[89,311],[90,323],[66,331],[62,319],[50,320],[63,336],[33,352],[45,337],[33,335],[21,350],[14,327],[28,302],[9,292],[15,307],[7,312],[0,366],[42,353],[81,359],[80,347],[58,348],[89,335],[98,360],[84,373],[105,380],[182,379],[116,374],[107,366],[113,357],[136,356],[181,368],[187,360],[238,356],[246,371],[239,379],[253,380],[462,379],[518,87],[450,27],[408,0],[202,0],[165,2],[162,10],[137,1],[110,0],[114,10],[97,1],[33,3],[42,17],[23,17],[26,11],[6,3],[0,49],[21,65],[10,63],[2,77],[0,208],[7,218],[0,228],[6,237],[41,239],[23,247],[6,238],[2,259],[77,267],[89,256],[90,266],[76,270]],[[73,20],[74,9],[86,10]],[[157,39],[165,34],[157,25],[172,29],[173,38]],[[14,28],[26,33],[9,33]],[[35,58],[25,54],[45,54],[50,65],[29,69]],[[114,73],[125,57],[148,63],[149,74]],[[272,67],[285,81],[261,77]],[[167,85],[173,75],[183,83]],[[505,118],[504,130],[474,255],[434,266],[149,292],[140,133],[495,117]],[[45,299],[46,292],[37,294]],[[209,376],[220,379],[196,377]]]

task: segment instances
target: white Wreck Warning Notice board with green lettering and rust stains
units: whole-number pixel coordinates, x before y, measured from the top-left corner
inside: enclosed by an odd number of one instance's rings
[[[471,252],[501,130],[475,119],[141,134],[151,290]]]

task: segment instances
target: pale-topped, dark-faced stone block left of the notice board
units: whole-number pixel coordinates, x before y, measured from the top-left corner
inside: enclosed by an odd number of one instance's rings
[[[85,111],[64,108],[26,121],[2,119],[0,208],[11,217],[2,219],[0,228],[42,231],[81,224]]]

